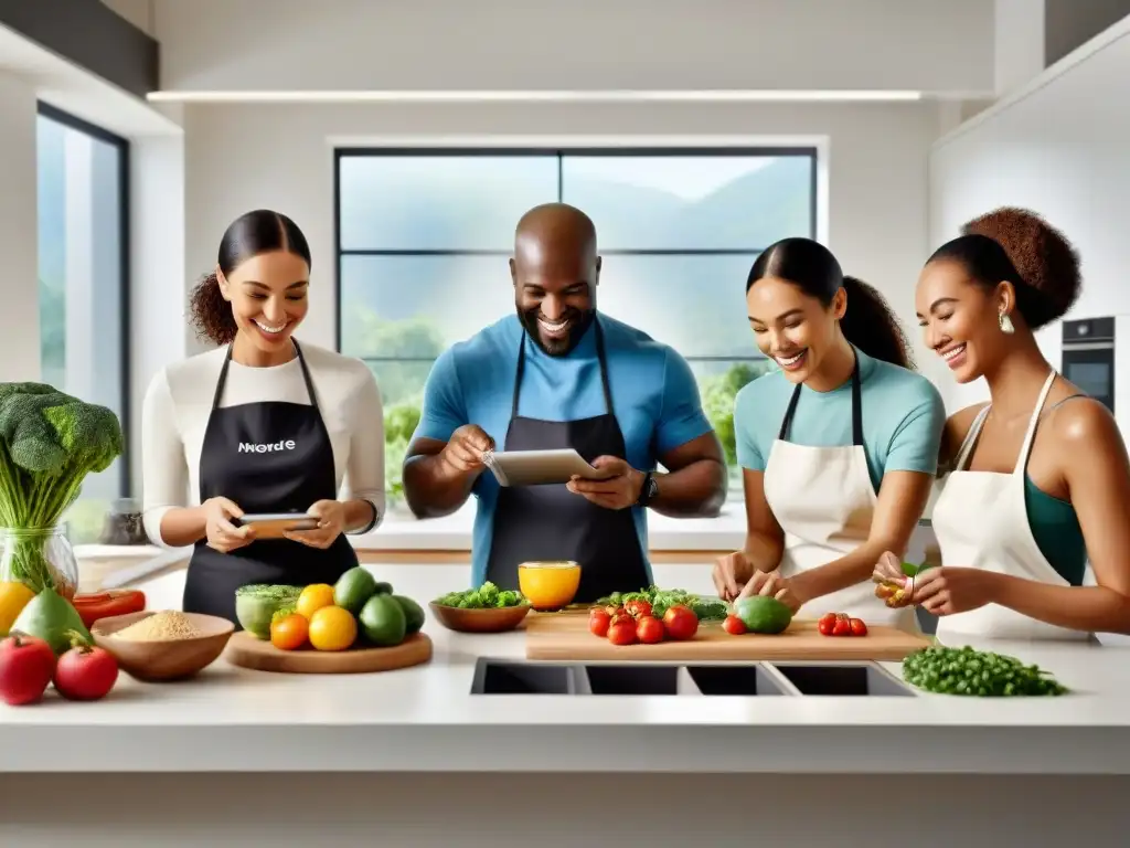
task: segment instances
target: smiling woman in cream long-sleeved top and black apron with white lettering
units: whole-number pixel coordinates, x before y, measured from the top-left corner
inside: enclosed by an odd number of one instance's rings
[[[310,269],[290,218],[257,209],[233,222],[191,297],[192,323],[216,349],[164,369],[146,393],[144,521],[155,543],[193,546],[185,612],[238,624],[241,586],[333,583],[357,565],[344,534],[374,528],[384,512],[372,373],[294,338]],[[260,525],[241,521],[253,513],[307,520],[257,539]]]

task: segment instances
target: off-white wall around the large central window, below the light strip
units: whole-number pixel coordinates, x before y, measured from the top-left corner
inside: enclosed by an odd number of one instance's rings
[[[220,235],[240,214],[269,207],[290,215],[314,253],[303,335],[315,344],[334,343],[334,138],[358,144],[398,137],[411,145],[412,137],[538,136],[566,144],[600,136],[646,144],[678,136],[694,144],[694,136],[826,136],[829,244],[844,268],[883,289],[913,327],[909,291],[925,253],[927,150],[937,128],[929,105],[241,105],[185,112],[190,276],[215,263]],[[508,285],[502,266],[498,285]]]

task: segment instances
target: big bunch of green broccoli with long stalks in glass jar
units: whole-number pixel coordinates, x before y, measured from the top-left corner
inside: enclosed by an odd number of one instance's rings
[[[123,450],[118,416],[44,383],[0,383],[0,527],[18,531],[8,580],[38,592],[54,589],[44,537],[82,488],[88,474],[110,467]],[[73,587],[67,587],[71,589]]]

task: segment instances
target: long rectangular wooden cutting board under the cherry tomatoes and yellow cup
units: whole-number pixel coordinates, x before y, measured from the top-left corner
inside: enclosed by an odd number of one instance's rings
[[[794,620],[779,635],[730,635],[720,622],[698,625],[694,639],[659,644],[616,646],[589,632],[589,620],[579,615],[531,614],[525,622],[527,659],[654,661],[757,661],[873,659],[898,661],[929,647],[927,637],[901,630],[869,626],[866,637],[826,637],[815,621]]]

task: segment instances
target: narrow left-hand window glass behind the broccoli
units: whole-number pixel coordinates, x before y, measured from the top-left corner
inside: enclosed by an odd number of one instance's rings
[[[129,423],[128,144],[40,105],[40,334],[42,379]],[[67,520],[95,540],[129,491],[128,451],[87,477]]]

